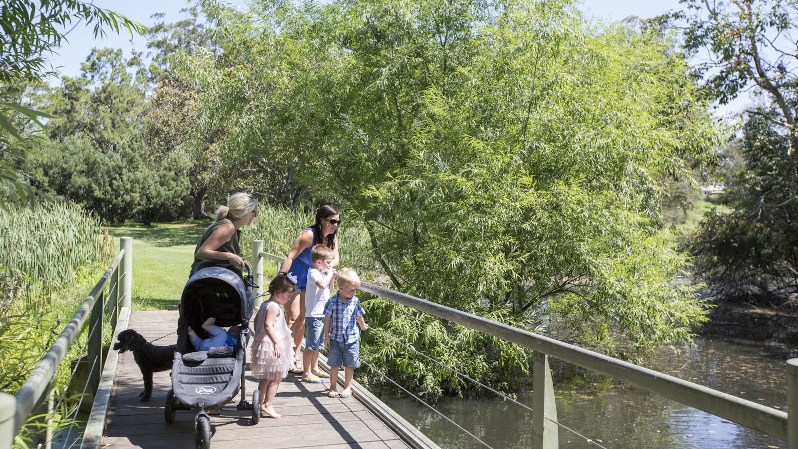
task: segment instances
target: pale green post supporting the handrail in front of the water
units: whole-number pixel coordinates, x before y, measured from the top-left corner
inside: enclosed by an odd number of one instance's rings
[[[554,383],[548,356],[535,351],[532,378],[532,447],[535,449],[557,449],[557,405],[554,402]]]

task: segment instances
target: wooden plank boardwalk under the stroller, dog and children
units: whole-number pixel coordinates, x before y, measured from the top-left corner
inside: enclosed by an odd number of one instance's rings
[[[174,344],[177,318],[176,311],[132,312],[128,328],[149,341],[165,336],[154,344]],[[300,383],[299,379],[289,374],[280,384],[275,399],[280,419],[261,418],[253,425],[251,411],[235,409],[239,397],[219,415],[212,415],[211,447],[408,447],[354,397],[331,399],[326,396],[329,383]],[[255,379],[247,376],[248,401],[257,386]],[[194,447],[194,411],[176,411],[172,424],[164,420],[164,403],[171,387],[169,372],[158,372],[152,399],[140,402],[138,394],[144,389],[141,373],[132,353],[121,354],[101,447]]]

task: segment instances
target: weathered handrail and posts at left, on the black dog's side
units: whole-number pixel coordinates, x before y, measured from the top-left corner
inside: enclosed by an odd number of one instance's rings
[[[112,282],[113,280],[117,280],[119,284],[122,284],[122,288],[117,287],[117,291],[115,293],[112,292],[109,302],[113,301],[116,303],[117,300],[120,299],[118,297],[119,293],[123,295],[121,298],[123,302],[127,300],[129,304],[130,301],[131,272],[129,267],[132,266],[131,240],[130,237],[122,237],[120,240],[120,252],[117,254],[117,257],[113,260],[100,280],[97,281],[97,284],[94,285],[94,288],[89,292],[89,296],[83,301],[81,307],[77,308],[72,320],[69,320],[69,324],[66,325],[53,343],[53,346],[51,346],[45,353],[45,356],[42,357],[41,362],[39,362],[33,372],[30,373],[25,383],[22,383],[17,394],[8,395],[6,393],[0,393],[0,403],[5,406],[3,408],[10,408],[10,411],[7,409],[4,410],[2,419],[0,419],[0,449],[6,449],[12,446],[15,435],[22,429],[22,426],[36,407],[39,407],[41,403],[43,403],[46,392],[49,391],[49,387],[53,382],[53,377],[57,372],[58,366],[63,362],[66,353],[69,351],[69,347],[81,332],[85,320],[89,318],[89,316],[91,316],[92,324],[97,324],[100,329],[100,332],[95,332],[97,336],[90,339],[93,341],[89,344],[89,353],[97,355],[101,353],[103,306],[105,306],[105,288],[109,279],[111,279]],[[120,267],[128,267],[128,271],[120,273]],[[112,286],[112,291],[113,287],[115,286]],[[100,300],[99,302],[97,301],[98,299]],[[117,304],[113,304],[113,309],[114,310],[111,312],[113,315],[117,315]],[[115,319],[112,320],[112,322],[115,322]],[[97,383],[99,382],[98,373],[101,368],[101,366],[95,368],[97,374],[93,376],[94,382],[91,386],[94,390],[97,389]]]

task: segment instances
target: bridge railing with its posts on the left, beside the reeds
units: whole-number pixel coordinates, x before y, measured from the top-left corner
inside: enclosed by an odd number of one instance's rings
[[[69,348],[89,320],[89,338],[86,353],[89,366],[88,390],[97,393],[103,370],[103,326],[106,313],[109,325],[116,328],[120,309],[129,309],[132,291],[132,238],[120,239],[120,251],[105,274],[97,281],[89,296],[66,325],[61,335],[49,348],[41,362],[30,373],[16,395],[0,392],[0,449],[14,445],[14,439],[34,411],[53,415],[53,400],[50,393],[54,377],[64,361]],[[46,402],[46,405],[45,405]],[[53,439],[52,427],[48,426],[43,444],[50,447]]]

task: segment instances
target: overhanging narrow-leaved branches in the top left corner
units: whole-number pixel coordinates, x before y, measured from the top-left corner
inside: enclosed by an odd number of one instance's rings
[[[45,74],[46,55],[61,45],[61,27],[85,20],[94,23],[94,35],[104,36],[104,28],[140,33],[144,27],[120,14],[103,10],[80,0],[26,2],[8,0],[0,6],[0,97],[8,95],[14,83],[40,81]],[[15,101],[0,102],[0,186],[4,200],[26,197],[30,193],[19,176],[18,166],[26,159],[26,138],[11,123],[14,115],[30,119],[43,117]]]

